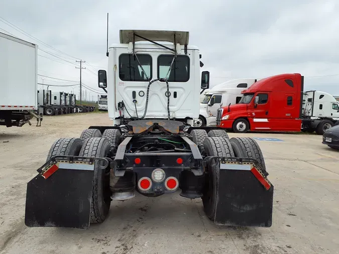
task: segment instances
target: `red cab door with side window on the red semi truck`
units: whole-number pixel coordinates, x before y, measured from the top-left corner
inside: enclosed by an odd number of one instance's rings
[[[256,97],[259,97],[255,103]],[[270,130],[269,116],[270,116],[270,92],[257,93],[252,99],[251,105],[251,130],[265,131]]]

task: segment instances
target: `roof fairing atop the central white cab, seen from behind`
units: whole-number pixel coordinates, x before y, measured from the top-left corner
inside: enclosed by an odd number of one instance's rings
[[[128,44],[134,41],[145,41],[144,39],[134,36],[139,35],[151,41],[172,42],[180,45],[187,45],[189,40],[189,32],[184,31],[161,31],[161,30],[120,30],[120,43]]]

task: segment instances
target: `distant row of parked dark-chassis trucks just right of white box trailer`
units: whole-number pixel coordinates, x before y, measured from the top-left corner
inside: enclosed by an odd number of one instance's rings
[[[43,109],[45,115],[82,113],[95,110],[93,106],[76,105],[76,97],[72,93],[39,89],[37,97],[38,107]]]

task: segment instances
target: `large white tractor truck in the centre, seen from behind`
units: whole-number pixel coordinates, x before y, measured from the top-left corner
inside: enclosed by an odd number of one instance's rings
[[[85,229],[135,192],[201,198],[217,225],[271,226],[274,187],[256,141],[189,125],[209,72],[188,41],[182,31],[120,30],[108,72],[98,71],[112,125],[55,141],[27,186],[27,226]]]

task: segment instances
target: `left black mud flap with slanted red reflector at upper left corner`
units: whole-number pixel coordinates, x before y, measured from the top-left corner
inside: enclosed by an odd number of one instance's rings
[[[83,162],[50,163],[27,184],[25,224],[88,228],[93,170]]]

